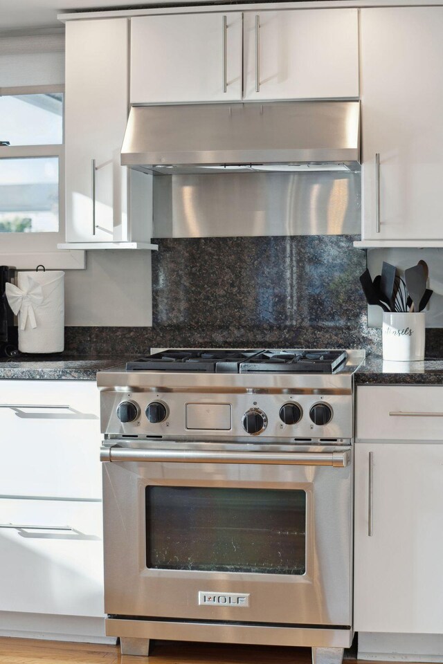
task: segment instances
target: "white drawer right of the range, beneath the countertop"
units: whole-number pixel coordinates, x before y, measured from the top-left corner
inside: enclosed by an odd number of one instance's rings
[[[357,387],[356,439],[443,441],[443,386]]]

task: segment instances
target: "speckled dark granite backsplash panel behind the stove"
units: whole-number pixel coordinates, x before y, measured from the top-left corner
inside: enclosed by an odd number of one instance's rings
[[[356,236],[160,239],[156,346],[379,347],[368,329]]]

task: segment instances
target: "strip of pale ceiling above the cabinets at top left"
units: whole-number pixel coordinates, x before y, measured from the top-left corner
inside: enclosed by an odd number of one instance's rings
[[[161,4],[172,0],[161,0]],[[1,33],[28,28],[60,26],[57,14],[92,9],[149,6],[153,0],[0,0]],[[159,4],[157,0],[155,4]]]

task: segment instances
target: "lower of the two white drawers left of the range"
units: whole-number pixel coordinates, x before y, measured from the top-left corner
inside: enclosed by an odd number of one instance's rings
[[[0,610],[103,616],[100,502],[0,499]],[[71,530],[57,530],[69,526]]]

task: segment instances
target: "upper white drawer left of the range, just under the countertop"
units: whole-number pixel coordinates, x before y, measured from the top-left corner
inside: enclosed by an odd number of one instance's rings
[[[93,381],[0,382],[0,495],[101,498]]]

